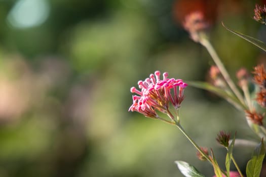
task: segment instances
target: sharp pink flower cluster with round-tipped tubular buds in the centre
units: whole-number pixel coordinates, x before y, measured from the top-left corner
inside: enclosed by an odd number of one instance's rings
[[[131,93],[137,95],[133,95],[133,104],[129,111],[137,111],[146,117],[158,118],[156,110],[168,113],[169,103],[175,109],[180,107],[187,84],[181,79],[167,78],[167,72],[163,73],[163,80],[160,79],[160,75],[160,71],[155,71],[155,74],[150,74],[144,81],[138,81],[140,91],[131,87]]]

